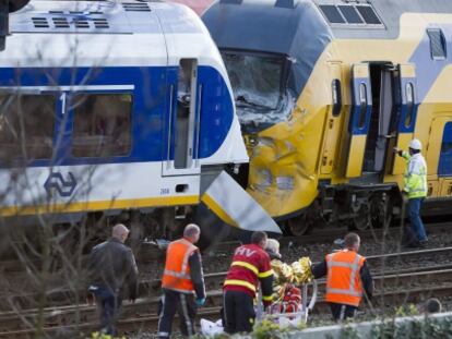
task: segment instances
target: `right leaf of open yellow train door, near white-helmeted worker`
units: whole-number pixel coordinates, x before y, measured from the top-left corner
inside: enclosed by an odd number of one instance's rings
[[[395,147],[407,150],[413,140],[417,117],[416,70],[414,64],[400,64],[400,117],[396,131]],[[403,174],[406,161],[402,157],[392,155],[392,174]]]

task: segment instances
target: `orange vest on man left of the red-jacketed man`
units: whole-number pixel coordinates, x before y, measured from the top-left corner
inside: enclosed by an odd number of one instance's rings
[[[171,242],[166,251],[165,270],[162,277],[162,287],[178,292],[193,292],[193,282],[190,278],[190,255],[199,251],[195,245],[186,239]]]

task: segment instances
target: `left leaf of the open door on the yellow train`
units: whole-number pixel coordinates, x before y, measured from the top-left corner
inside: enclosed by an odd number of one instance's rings
[[[372,110],[372,92],[368,63],[352,65],[352,108],[348,121],[349,144],[345,177],[361,175],[367,134]]]

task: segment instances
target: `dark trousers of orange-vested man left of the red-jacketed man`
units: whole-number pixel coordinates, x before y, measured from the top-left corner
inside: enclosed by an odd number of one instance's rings
[[[192,293],[182,293],[173,290],[163,290],[162,310],[158,318],[157,338],[169,338],[171,335],[173,318],[179,314],[180,331],[185,336],[194,335],[194,316],[197,305]]]

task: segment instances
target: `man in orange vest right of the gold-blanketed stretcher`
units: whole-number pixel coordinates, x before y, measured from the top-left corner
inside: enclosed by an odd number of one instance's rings
[[[359,245],[359,235],[348,233],[344,238],[344,250],[326,255],[312,267],[316,279],[326,276],[325,300],[336,322],[355,316],[364,291],[369,300],[372,298],[373,281],[366,258],[358,254]]]

